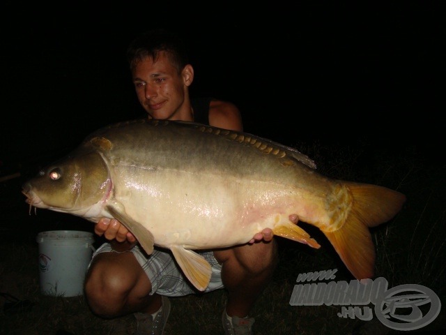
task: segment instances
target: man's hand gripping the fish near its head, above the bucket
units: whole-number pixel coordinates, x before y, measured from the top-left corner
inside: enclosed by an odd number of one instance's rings
[[[115,218],[100,218],[98,223],[95,223],[95,233],[99,236],[104,235],[116,251],[129,250],[137,244],[134,234]]]

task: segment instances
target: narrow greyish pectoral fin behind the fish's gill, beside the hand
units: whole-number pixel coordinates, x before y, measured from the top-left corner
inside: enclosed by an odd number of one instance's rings
[[[112,206],[107,205],[107,210],[116,220],[125,225],[125,228],[130,230],[134,237],[139,241],[139,244],[144,248],[144,251],[148,255],[153,253],[153,244],[155,239],[153,239],[153,234],[141,225],[141,223],[134,221],[130,216],[125,213],[125,209],[122,206]]]

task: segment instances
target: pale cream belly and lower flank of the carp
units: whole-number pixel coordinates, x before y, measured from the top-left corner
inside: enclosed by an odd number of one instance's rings
[[[119,174],[123,183],[114,185],[116,200],[165,248],[243,244],[264,228],[289,223],[291,214],[308,211],[302,190],[270,181],[180,170]]]

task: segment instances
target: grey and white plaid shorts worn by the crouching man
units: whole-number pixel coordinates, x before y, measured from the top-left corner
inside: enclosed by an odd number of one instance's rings
[[[189,280],[184,276],[183,271],[178,267],[171,251],[167,249],[157,248],[153,250],[151,255],[147,255],[139,246],[134,246],[130,250],[134,257],[141,265],[144,272],[146,272],[148,279],[152,283],[153,293],[165,295],[168,297],[183,297],[185,295],[192,295],[200,293],[201,291],[194,288]],[[109,243],[102,244],[93,253],[93,258],[98,253],[115,252]],[[212,251],[197,251],[210,264],[212,274],[210,276],[210,283],[203,292],[210,292],[223,288],[222,283],[222,265],[218,264]],[[92,260],[93,260],[92,258]]]

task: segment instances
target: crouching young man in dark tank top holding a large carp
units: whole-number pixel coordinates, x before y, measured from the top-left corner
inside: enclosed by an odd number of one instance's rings
[[[189,87],[194,69],[177,36],[150,31],[135,39],[128,60],[139,103],[150,119],[195,121],[242,131],[238,108],[226,101],[192,101]],[[118,221],[102,218],[95,233],[110,241],[93,255],[85,281],[85,294],[93,313],[113,318],[134,313],[137,334],[162,334],[170,311],[167,298],[197,290],[176,267],[169,251],[156,248],[146,255],[133,234]],[[252,334],[248,314],[268,284],[277,264],[277,246],[270,229],[256,234],[248,244],[202,252],[213,268],[205,292],[226,288],[222,306],[225,334]]]

